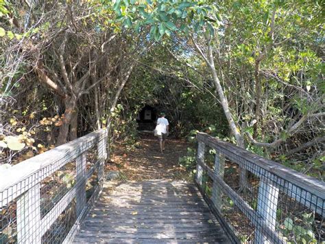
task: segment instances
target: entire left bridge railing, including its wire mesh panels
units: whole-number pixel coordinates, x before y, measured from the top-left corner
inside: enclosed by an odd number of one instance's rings
[[[0,172],[0,243],[69,243],[101,191],[101,129]]]

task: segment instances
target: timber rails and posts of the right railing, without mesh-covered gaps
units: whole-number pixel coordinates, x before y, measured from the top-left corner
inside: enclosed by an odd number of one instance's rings
[[[283,236],[276,230],[276,226],[279,226],[279,223],[276,223],[276,215],[280,194],[287,195],[292,199],[290,201],[296,201],[304,208],[317,212],[324,219],[324,182],[250,153],[234,144],[217,140],[206,133],[197,133],[197,142],[196,181],[208,205],[218,219],[226,222],[221,214],[221,195],[224,194],[231,199],[234,206],[237,206],[256,228],[255,243],[285,242]],[[216,151],[214,169],[205,163],[207,146]],[[256,210],[245,201],[240,192],[230,188],[224,181],[225,159],[248,170],[259,180]],[[204,175],[213,181],[212,197],[208,197],[205,192]],[[233,231],[230,223],[226,223],[224,227],[232,241],[239,242],[239,236]]]

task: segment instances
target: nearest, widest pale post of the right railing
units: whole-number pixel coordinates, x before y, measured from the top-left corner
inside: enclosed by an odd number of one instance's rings
[[[276,230],[276,208],[278,206],[279,189],[264,177],[261,177],[258,188],[257,213],[270,230]],[[261,225],[256,226],[254,243],[271,243],[261,232]]]

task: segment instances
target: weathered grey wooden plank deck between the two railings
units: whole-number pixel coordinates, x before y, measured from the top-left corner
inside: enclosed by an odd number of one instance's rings
[[[230,243],[194,184],[106,184],[74,243]]]

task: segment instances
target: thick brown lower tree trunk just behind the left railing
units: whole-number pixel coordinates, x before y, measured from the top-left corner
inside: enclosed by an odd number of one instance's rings
[[[73,118],[73,110],[75,109],[76,100],[73,97],[68,97],[64,101],[64,118],[62,119],[63,124],[60,126],[57,146],[60,146],[67,142],[69,133],[69,126]]]

